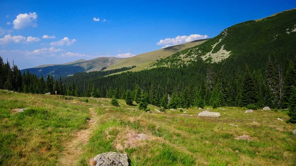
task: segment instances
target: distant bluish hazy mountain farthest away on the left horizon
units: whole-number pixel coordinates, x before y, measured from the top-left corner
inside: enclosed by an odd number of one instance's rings
[[[99,57],[92,60],[78,60],[75,62],[70,62],[67,64],[61,64],[61,65],[42,65],[37,66],[34,68],[27,68],[21,70],[27,71],[29,70],[30,73],[34,73],[37,75],[37,77],[40,77],[41,74],[45,77],[47,74],[52,75],[53,77],[58,76],[68,76],[73,75],[77,72],[90,72],[90,71],[100,71],[103,67],[110,66],[112,64],[115,64],[124,58],[115,58],[115,57]]]

